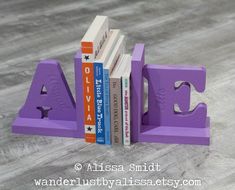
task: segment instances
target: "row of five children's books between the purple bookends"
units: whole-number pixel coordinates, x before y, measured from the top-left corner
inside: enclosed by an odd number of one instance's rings
[[[81,41],[86,142],[130,145],[131,56],[125,36],[96,16]]]

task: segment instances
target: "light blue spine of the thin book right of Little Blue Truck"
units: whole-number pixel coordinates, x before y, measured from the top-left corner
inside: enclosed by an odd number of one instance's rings
[[[105,144],[111,144],[109,70],[103,70]]]

